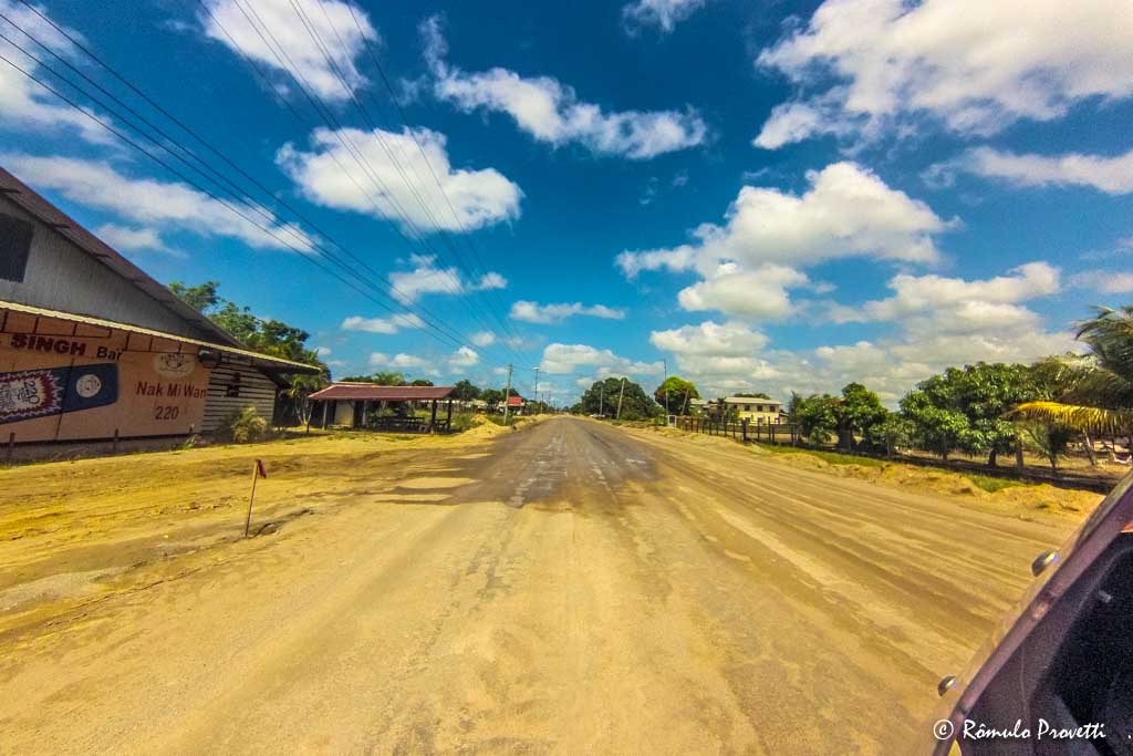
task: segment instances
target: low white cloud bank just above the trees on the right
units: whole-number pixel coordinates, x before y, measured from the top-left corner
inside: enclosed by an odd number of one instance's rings
[[[971,281],[901,274],[889,287],[893,297],[836,311],[840,322],[894,324],[875,340],[768,349],[767,337],[744,323],[707,321],[654,331],[650,342],[672,352],[679,374],[708,396],[755,390],[785,400],[791,391],[837,392],[860,381],[891,404],[951,365],[1025,363],[1074,348],[1070,333],[1045,330],[1038,313],[1021,304],[1059,290],[1058,271],[1046,263]]]

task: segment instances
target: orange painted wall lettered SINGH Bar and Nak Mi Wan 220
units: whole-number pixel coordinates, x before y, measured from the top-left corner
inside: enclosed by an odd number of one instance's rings
[[[196,351],[174,339],[10,313],[0,332],[2,433],[17,442],[190,433],[208,393],[210,369]]]

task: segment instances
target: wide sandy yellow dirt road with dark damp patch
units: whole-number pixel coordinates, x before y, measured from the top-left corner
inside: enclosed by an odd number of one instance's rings
[[[1073,527],[580,419],[398,453],[0,637],[0,751],[892,753]]]

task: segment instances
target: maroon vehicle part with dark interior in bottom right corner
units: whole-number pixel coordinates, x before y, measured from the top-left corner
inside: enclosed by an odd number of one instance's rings
[[[968,669],[940,680],[925,753],[1133,755],[1133,473]]]

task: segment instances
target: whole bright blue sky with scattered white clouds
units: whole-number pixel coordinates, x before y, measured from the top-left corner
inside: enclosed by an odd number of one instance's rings
[[[0,164],[159,280],[308,330],[337,375],[499,384],[512,363],[561,402],[665,366],[714,396],[860,380],[892,402],[1072,348],[1091,305],[1133,298],[1113,3],[476,5],[0,0],[0,53],[128,130],[66,60],[261,226],[3,61]],[[316,266],[343,248],[369,297]]]

